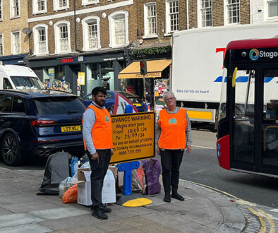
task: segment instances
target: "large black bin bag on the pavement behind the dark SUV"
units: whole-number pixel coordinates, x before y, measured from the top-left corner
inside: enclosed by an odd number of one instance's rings
[[[45,165],[44,179],[37,195],[59,195],[59,184],[70,176],[69,153],[50,155]]]

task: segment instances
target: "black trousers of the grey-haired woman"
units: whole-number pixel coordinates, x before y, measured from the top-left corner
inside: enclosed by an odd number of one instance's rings
[[[160,150],[162,181],[165,193],[176,193],[179,187],[179,168],[184,150]]]

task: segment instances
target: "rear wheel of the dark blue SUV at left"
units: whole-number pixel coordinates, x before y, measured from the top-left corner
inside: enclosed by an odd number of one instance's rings
[[[20,165],[22,162],[18,138],[13,133],[7,133],[2,138],[1,155],[8,166]]]

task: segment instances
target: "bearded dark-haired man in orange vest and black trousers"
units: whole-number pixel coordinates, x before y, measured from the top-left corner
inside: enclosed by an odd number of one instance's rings
[[[83,140],[90,160],[92,216],[107,220],[110,213],[102,203],[102,186],[109,166],[112,148],[112,124],[109,112],[104,107],[107,92],[102,87],[92,90],[92,104],[83,114]]]

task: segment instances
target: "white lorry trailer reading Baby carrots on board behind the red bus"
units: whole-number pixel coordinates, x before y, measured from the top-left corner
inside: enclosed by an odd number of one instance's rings
[[[176,95],[177,104],[186,107],[192,121],[215,123],[226,45],[231,40],[275,36],[278,36],[278,23],[174,32],[170,90]],[[246,83],[241,81],[241,85],[246,87],[247,80]]]

